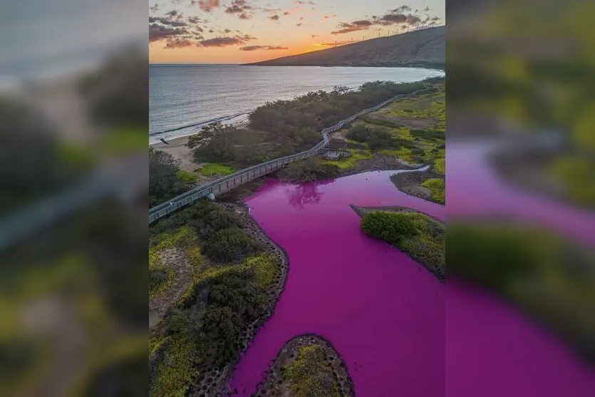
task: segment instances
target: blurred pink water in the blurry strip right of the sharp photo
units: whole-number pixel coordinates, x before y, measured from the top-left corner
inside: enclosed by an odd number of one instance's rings
[[[487,163],[487,143],[447,144],[447,216],[507,218],[595,244],[595,214],[507,185]],[[595,371],[518,311],[448,279],[446,393],[456,397],[595,396]]]

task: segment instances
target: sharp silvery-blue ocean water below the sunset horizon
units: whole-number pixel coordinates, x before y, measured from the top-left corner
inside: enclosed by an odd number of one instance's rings
[[[443,76],[423,68],[150,65],[149,142],[196,133],[216,120],[242,123],[268,101],[368,81],[408,83]]]

